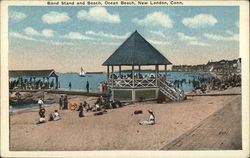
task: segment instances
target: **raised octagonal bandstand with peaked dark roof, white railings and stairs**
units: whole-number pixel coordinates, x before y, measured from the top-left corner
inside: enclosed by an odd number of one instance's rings
[[[135,31],[103,63],[107,66],[107,81],[112,100],[156,99],[162,92],[171,100],[180,100],[181,92],[167,81],[167,65],[171,62]],[[142,72],[141,67],[153,67],[153,73]],[[164,71],[159,73],[159,66]],[[122,67],[130,67],[126,75]],[[115,68],[118,71],[115,72]]]

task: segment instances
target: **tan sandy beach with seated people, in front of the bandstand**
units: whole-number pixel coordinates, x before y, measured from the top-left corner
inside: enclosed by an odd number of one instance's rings
[[[230,88],[225,91],[212,91],[215,94],[239,93],[239,87]],[[80,103],[83,100],[93,103],[96,98],[84,96],[70,96],[69,101]],[[77,111],[61,110],[62,119],[59,121],[46,122],[36,125],[34,122],[39,118],[38,108],[14,112],[10,115],[10,150],[12,151],[60,151],[60,150],[159,150],[159,149],[182,149],[166,145],[183,137],[185,133],[196,128],[200,124],[218,124],[218,129],[203,131],[198,135],[196,145],[192,149],[215,148],[232,149],[235,146],[230,143],[220,146],[209,146],[214,144],[213,137],[218,133],[230,131],[229,123],[221,123],[218,119],[210,119],[218,115],[223,120],[234,120],[233,133],[241,132],[241,95],[228,96],[195,96],[188,97],[182,102],[171,102],[157,104],[155,101],[138,102],[118,109],[110,109],[104,115],[94,116],[93,112],[85,113],[86,117],[79,118]],[[227,112],[219,112],[230,104],[235,115]],[[49,114],[58,109],[58,104],[45,107],[46,120]],[[235,108],[234,108],[235,107]],[[156,124],[142,126],[138,122],[148,117],[147,110],[152,109]],[[143,114],[134,115],[135,110],[142,110]],[[225,110],[224,110],[225,111]],[[236,113],[235,113],[236,111]],[[200,126],[199,126],[200,127]],[[197,128],[196,128],[197,129]],[[201,139],[209,132],[210,139]],[[215,131],[215,132],[214,132]],[[230,133],[230,132],[229,132]],[[222,133],[222,135],[225,135]],[[199,138],[199,139],[198,139]],[[240,135],[223,137],[231,144],[241,141]],[[229,140],[230,139],[230,140]],[[188,138],[186,146],[193,140]],[[198,141],[198,142],[197,142]],[[179,141],[178,141],[179,142]],[[183,147],[184,149],[185,147]],[[239,148],[237,145],[236,148]]]

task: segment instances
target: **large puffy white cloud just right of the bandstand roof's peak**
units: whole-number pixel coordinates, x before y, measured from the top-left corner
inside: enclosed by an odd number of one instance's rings
[[[165,28],[172,28],[173,21],[169,18],[167,14],[164,12],[152,12],[148,15],[146,15],[143,19],[134,18],[132,19],[132,22],[138,24],[138,25],[144,25],[144,26],[162,26]]]

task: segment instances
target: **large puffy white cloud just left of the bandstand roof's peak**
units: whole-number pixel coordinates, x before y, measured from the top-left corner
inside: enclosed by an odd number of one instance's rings
[[[121,22],[119,14],[111,14],[104,7],[92,7],[88,11],[80,10],[76,16],[80,20],[107,22],[107,23]]]

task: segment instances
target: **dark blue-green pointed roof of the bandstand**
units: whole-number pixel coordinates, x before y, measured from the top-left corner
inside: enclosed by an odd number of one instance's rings
[[[170,65],[172,64],[135,31],[103,65]]]

